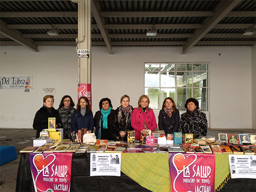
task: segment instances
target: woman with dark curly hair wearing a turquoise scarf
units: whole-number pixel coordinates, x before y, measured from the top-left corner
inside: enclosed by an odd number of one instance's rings
[[[112,109],[111,100],[102,98],[99,103],[100,111],[97,111],[94,116],[94,126],[96,139],[113,140],[113,120],[114,112]]]

